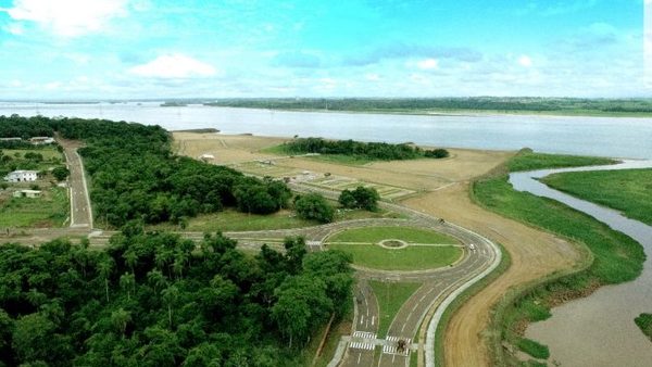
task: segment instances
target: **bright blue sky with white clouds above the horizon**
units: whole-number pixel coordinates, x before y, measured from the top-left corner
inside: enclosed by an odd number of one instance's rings
[[[652,97],[643,75],[643,0],[0,0],[0,100]]]

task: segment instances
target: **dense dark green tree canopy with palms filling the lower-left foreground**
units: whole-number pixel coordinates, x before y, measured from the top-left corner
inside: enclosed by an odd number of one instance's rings
[[[350,305],[349,263],[302,239],[250,256],[220,233],[0,245],[0,365],[300,365],[291,349]]]

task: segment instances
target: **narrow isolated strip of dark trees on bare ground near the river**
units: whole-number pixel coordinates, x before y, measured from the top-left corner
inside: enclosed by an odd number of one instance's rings
[[[446,157],[444,149],[423,150],[411,144],[390,144],[387,142],[362,142],[355,140],[326,140],[323,138],[297,138],[284,143],[290,153],[318,153],[360,156],[369,160],[399,161],[419,157]]]

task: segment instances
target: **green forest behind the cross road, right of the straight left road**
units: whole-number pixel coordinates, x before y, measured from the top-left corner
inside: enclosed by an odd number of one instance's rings
[[[0,136],[33,134],[82,140],[96,220],[120,228],[130,220],[181,223],[225,206],[268,214],[288,205],[281,181],[246,177],[231,168],[174,155],[160,126],[80,118],[0,116]]]

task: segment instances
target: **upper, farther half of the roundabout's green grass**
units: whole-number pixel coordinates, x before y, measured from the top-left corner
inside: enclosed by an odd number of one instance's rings
[[[456,239],[432,230],[412,227],[365,227],[349,229],[336,233],[329,242],[365,242],[378,243],[383,240],[396,239],[413,243],[459,244]]]

